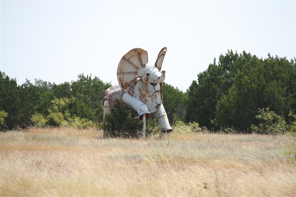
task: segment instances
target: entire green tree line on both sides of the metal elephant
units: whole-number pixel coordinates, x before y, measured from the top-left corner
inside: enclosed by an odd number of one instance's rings
[[[221,54],[204,72],[197,74],[184,93],[163,83],[163,105],[169,121],[198,122],[219,130],[233,127],[250,132],[262,122],[260,109],[292,124],[296,114],[296,60],[265,59],[243,51]],[[17,85],[0,72],[0,127],[13,129],[39,122],[40,126],[94,125],[102,122],[102,96],[111,87],[99,77],[78,75],[61,84],[35,80]],[[292,114],[292,115],[291,115]],[[79,124],[78,124],[79,123]],[[82,126],[82,127],[84,127]]]

